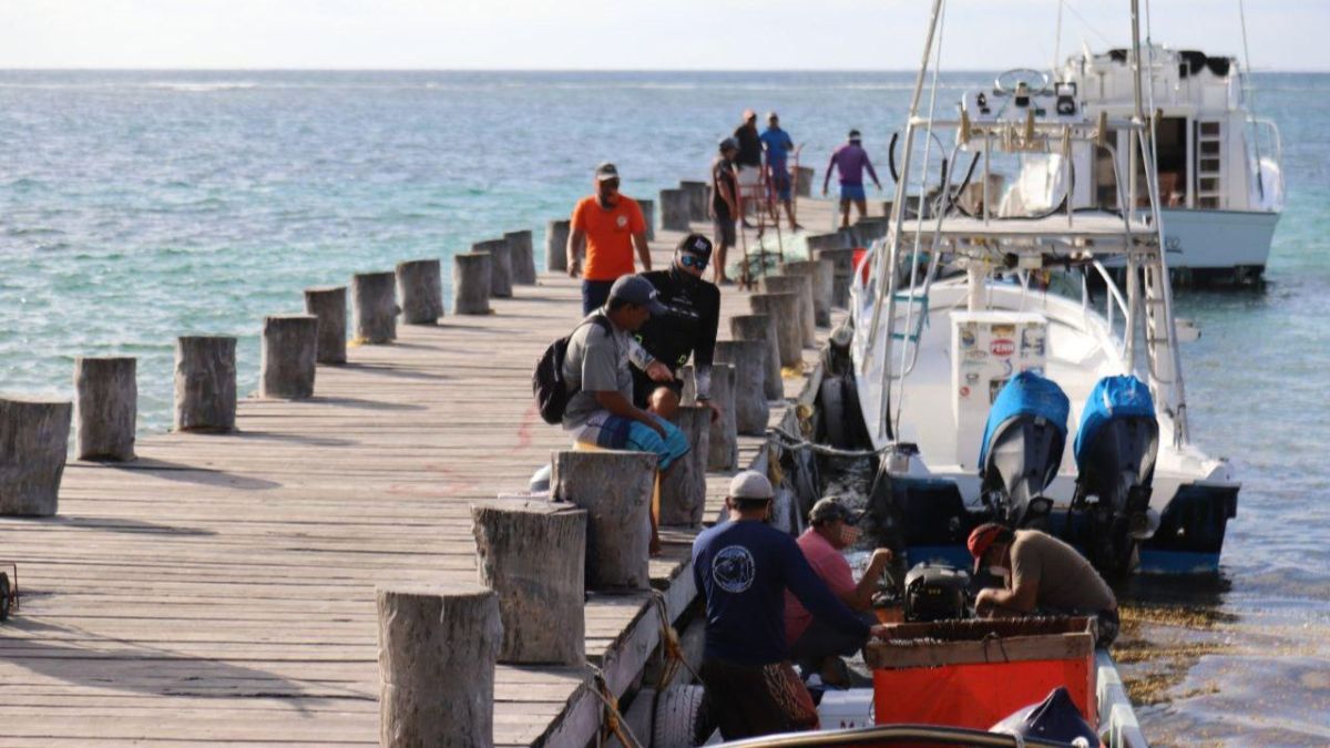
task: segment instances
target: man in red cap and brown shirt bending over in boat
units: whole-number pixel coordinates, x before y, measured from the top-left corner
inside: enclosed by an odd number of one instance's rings
[[[1076,548],[1039,530],[1011,531],[996,522],[980,524],[966,543],[975,574],[988,568],[1003,587],[980,590],[975,612],[984,618],[1083,615],[1097,619],[1095,646],[1117,638],[1117,598]]]

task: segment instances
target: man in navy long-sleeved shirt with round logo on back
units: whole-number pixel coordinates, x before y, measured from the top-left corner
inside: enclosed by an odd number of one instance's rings
[[[785,647],[785,590],[861,646],[884,631],[855,618],[813,572],[794,538],[769,526],[771,483],[745,470],[730,482],[729,522],[693,542],[693,580],[706,599],[702,683],[725,740],[818,728],[818,712]]]

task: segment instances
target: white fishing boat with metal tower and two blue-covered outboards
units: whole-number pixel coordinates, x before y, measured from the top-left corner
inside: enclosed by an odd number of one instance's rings
[[[920,116],[920,71],[888,232],[851,286],[859,407],[887,455],[871,500],[911,563],[967,563],[970,528],[998,519],[1111,575],[1217,568],[1238,483],[1189,439],[1160,122],[1129,65],[1127,114],[1009,71]],[[1087,182],[1079,153],[1105,153],[1111,178]],[[1076,198],[1101,181],[1112,205]]]

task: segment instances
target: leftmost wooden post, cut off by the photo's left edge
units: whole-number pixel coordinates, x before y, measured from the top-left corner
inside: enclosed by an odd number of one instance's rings
[[[56,515],[72,417],[69,401],[0,397],[0,515]]]

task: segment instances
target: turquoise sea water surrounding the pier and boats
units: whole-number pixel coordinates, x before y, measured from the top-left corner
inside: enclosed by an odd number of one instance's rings
[[[983,84],[954,75],[944,84]],[[628,194],[697,178],[745,106],[775,109],[819,169],[850,126],[884,161],[906,73],[0,72],[0,391],[70,393],[81,354],[140,358],[141,427],[170,417],[173,341],[241,339],[301,290],[564,217],[616,161]],[[1256,291],[1180,291],[1196,441],[1245,482],[1224,575],[1185,598],[1152,736],[1330,741],[1330,76],[1257,76],[1289,204]],[[955,98],[955,94],[951,94]],[[943,98],[947,100],[946,97]],[[536,244],[541,246],[543,232]],[[544,260],[537,258],[543,266]],[[444,264],[446,272],[450,264]],[[447,283],[446,283],[447,285]],[[1274,699],[1271,693],[1285,696]]]

